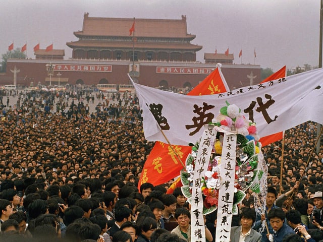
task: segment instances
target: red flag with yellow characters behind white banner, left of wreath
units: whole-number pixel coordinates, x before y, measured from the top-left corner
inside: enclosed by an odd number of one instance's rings
[[[192,89],[187,95],[210,95],[229,91],[222,72],[219,68],[210,73],[202,82]],[[172,145],[185,165],[188,154],[192,147]],[[141,172],[138,182],[138,189],[144,183],[151,183],[154,186],[164,184],[180,174],[183,169],[182,162],[178,160],[172,148],[163,142],[156,142],[152,148]],[[177,183],[177,186],[181,183]]]

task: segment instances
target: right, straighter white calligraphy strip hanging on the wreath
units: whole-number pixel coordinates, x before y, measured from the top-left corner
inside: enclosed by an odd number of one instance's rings
[[[232,221],[232,205],[234,197],[234,178],[236,168],[237,135],[225,133],[221,156],[218,221],[216,241],[229,242]]]

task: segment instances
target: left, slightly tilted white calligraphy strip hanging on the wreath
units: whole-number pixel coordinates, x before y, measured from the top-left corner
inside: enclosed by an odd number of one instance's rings
[[[200,242],[205,239],[205,228],[203,220],[203,197],[202,197],[202,179],[210,160],[214,140],[217,132],[213,126],[204,126],[204,132],[198,148],[195,173],[192,186],[191,201],[191,241]]]

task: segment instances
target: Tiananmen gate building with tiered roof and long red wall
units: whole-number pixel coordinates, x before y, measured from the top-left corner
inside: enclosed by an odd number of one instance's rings
[[[8,59],[0,84],[13,84],[16,67],[18,86],[57,85],[58,79],[61,85],[129,84],[129,73],[143,85],[184,88],[196,86],[217,63],[222,63],[230,89],[260,83],[260,66],[236,65],[231,53],[204,53],[205,63],[197,62],[196,52],[202,46],[191,43],[196,36],[187,33],[185,16],[176,20],[93,18],[85,13],[82,30],[74,35],[78,40],[66,43],[73,49],[71,58],[64,59],[64,50],[39,49],[35,59]]]

